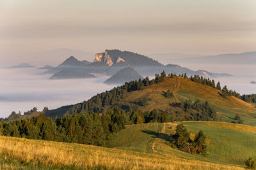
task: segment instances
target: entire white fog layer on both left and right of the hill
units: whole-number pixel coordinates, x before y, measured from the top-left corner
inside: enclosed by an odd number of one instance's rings
[[[171,62],[173,63],[173,62]],[[255,65],[213,65],[173,63],[189,69],[206,69],[214,73],[228,73],[234,76],[214,78],[220,81],[221,87],[236,90],[240,94],[256,93]],[[37,107],[49,109],[68,104],[76,104],[89,99],[97,93],[112,89],[115,85],[105,85],[108,77],[97,75],[99,78],[49,80],[49,74],[41,74],[44,70],[28,69],[0,69],[0,117],[7,117],[12,111],[24,113]]]

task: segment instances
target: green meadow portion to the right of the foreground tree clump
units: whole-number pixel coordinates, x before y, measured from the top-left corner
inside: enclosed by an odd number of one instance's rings
[[[223,122],[185,122],[194,134],[204,131],[209,138],[208,159],[244,164],[248,156],[256,157],[256,128]]]

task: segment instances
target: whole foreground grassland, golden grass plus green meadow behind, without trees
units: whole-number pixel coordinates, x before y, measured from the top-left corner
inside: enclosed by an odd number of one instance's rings
[[[1,169],[243,169],[256,157],[256,127],[225,122],[183,122],[191,138],[202,130],[207,156],[169,145],[179,122],[129,125],[107,147],[0,136]],[[159,133],[160,132],[160,133]]]

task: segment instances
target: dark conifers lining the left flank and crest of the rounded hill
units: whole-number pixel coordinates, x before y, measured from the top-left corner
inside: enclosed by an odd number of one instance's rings
[[[177,76],[177,75],[175,75],[173,73],[168,74],[168,77],[170,77],[170,78],[174,78],[175,76]],[[183,77],[183,78],[187,78],[196,83],[202,83],[203,85],[208,85],[214,89],[221,90],[220,95],[223,97],[235,96],[235,97],[242,99],[246,102],[255,103],[255,101],[256,101],[256,94],[240,96],[240,94],[237,93],[236,91],[228,90],[227,86],[225,86],[225,87],[223,87],[223,89],[221,89],[220,82],[218,82],[216,84],[214,80],[210,80],[209,78],[204,78],[203,76],[195,75],[195,76],[190,76],[190,78],[188,78],[186,73],[181,74],[179,76]],[[152,80],[149,80],[149,78],[146,77],[143,80],[139,79],[139,80],[126,82],[124,85],[115,87],[106,92],[102,92],[101,94],[97,94],[96,96],[93,96],[88,101],[84,101],[83,103],[74,105],[72,108],[70,108],[70,110],[67,111],[67,114],[71,115],[74,113],[81,113],[84,111],[86,111],[86,112],[91,112],[91,111],[103,112],[104,108],[106,106],[115,106],[115,105],[120,106],[120,101],[121,101],[121,99],[124,99],[125,94],[127,94],[127,92],[142,90],[145,87],[147,87],[148,85],[161,83],[164,81],[164,77],[166,77],[166,73],[164,73],[164,71],[163,71],[161,74],[156,74],[155,78],[153,78]],[[173,94],[171,94],[171,92],[169,92],[167,95],[168,95],[168,97],[171,97]],[[131,108],[129,108],[128,110],[125,110],[125,111],[131,111]]]

